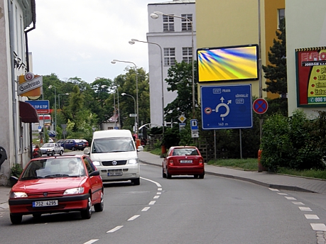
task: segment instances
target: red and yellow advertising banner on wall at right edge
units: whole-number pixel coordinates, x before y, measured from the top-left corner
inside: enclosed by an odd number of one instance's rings
[[[326,106],[326,47],[295,49],[298,106]]]

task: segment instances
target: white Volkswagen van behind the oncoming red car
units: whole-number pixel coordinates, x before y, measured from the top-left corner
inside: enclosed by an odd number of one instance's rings
[[[95,131],[90,150],[85,148],[99,170],[103,182],[131,180],[140,184],[138,151],[129,130]]]

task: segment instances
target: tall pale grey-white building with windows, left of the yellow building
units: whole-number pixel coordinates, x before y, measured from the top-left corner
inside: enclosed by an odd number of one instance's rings
[[[151,13],[161,12],[158,18],[151,18]],[[188,18],[190,21],[188,21]],[[169,104],[177,96],[168,91],[165,82],[168,69],[175,63],[195,60],[196,50],[195,0],[175,0],[158,4],[148,4],[148,72],[150,86],[151,123],[152,126],[163,125],[163,106]],[[192,50],[193,40],[193,50]],[[156,44],[153,44],[156,43]],[[163,56],[163,57],[161,57]],[[162,59],[161,59],[162,58]],[[162,71],[163,70],[163,71]],[[163,96],[162,96],[163,76]],[[164,124],[170,121],[165,121]]]

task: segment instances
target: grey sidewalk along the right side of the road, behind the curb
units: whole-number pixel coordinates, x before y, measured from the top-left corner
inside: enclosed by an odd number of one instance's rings
[[[162,158],[147,152],[139,152],[139,160],[148,165],[157,165],[161,167]],[[161,171],[160,171],[161,172]],[[205,165],[205,173],[219,177],[239,179],[254,184],[260,184],[263,187],[274,189],[286,189],[298,192],[326,193],[326,181],[321,179],[311,179],[305,177],[295,177],[284,174],[273,174],[268,172],[234,170],[227,167],[218,167]]]

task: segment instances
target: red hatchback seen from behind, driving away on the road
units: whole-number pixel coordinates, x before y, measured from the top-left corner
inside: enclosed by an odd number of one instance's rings
[[[162,162],[163,178],[172,175],[188,174],[204,179],[204,159],[196,147],[171,147]]]

